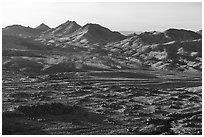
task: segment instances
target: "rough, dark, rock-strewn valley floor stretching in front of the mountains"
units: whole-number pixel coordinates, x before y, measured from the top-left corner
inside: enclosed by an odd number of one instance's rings
[[[202,134],[202,76],[3,70],[3,134]]]

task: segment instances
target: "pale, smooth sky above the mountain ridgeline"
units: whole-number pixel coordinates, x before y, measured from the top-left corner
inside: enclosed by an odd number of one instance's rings
[[[6,2],[2,27],[20,24],[56,27],[67,20],[83,26],[97,23],[115,31],[164,31],[168,28],[200,30],[202,3],[190,2]]]

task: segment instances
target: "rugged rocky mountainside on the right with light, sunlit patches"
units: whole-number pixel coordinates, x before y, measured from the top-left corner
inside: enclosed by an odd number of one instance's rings
[[[114,56],[126,56],[151,69],[201,71],[202,36],[193,31],[169,29],[144,32],[123,41],[109,43]]]

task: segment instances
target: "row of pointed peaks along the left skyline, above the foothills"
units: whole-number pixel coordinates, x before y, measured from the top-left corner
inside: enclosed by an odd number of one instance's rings
[[[22,37],[38,37],[45,39],[58,38],[74,43],[99,43],[119,41],[125,38],[119,32],[113,32],[99,24],[86,24],[80,26],[75,21],[67,21],[56,28],[49,28],[41,24],[37,28],[13,25],[3,28],[3,35],[14,35]]]

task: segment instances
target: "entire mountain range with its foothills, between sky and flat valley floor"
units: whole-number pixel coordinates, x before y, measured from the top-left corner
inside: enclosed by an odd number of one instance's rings
[[[202,71],[202,30],[171,28],[123,34],[99,24],[80,26],[75,21],[55,28],[43,23],[36,28],[8,26],[2,29],[3,68],[37,72]]]

